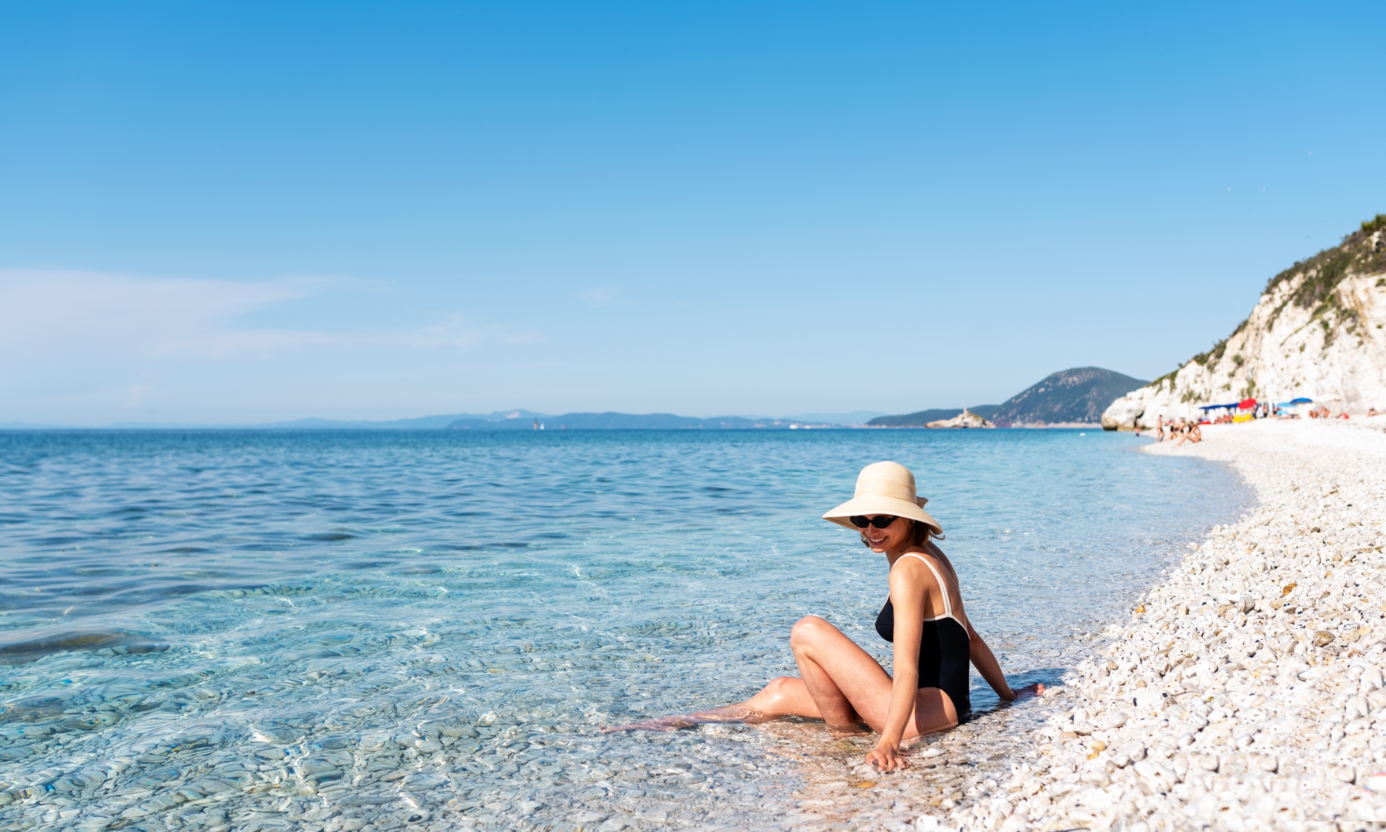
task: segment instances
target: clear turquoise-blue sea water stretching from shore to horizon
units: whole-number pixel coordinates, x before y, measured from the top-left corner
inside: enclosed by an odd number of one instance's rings
[[[597,727],[794,673],[809,613],[887,660],[884,560],[818,519],[879,459],[1006,671],[1056,681],[1243,505],[1138,442],[0,433],[0,828],[805,825],[812,752],[859,760],[822,725]]]

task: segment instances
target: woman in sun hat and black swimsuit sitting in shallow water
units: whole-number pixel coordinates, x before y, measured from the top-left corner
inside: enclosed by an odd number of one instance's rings
[[[972,628],[958,573],[930,541],[931,535],[942,537],[942,527],[924,512],[926,502],[916,496],[909,469],[877,462],[862,469],[852,499],[823,514],[823,520],[861,531],[862,542],[890,563],[890,598],[876,617],[876,632],[895,645],[894,678],[840,630],[807,616],[789,636],[798,677],[780,677],[739,704],[606,731],[669,731],[789,716],[829,725],[866,722],[880,734],[866,761],[894,771],[908,765],[900,750],[902,740],[967,720],[969,661],[1006,702],[1042,693],[1044,685],[1012,691],[987,642]]]

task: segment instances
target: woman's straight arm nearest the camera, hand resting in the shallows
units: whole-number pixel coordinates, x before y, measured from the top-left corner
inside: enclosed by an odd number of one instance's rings
[[[919,697],[919,641],[924,631],[924,564],[911,557],[890,570],[890,603],[895,607],[895,661],[891,674],[890,710],[880,731],[880,742],[866,754],[881,771],[905,768],[909,763],[900,753],[905,725],[915,713]]]

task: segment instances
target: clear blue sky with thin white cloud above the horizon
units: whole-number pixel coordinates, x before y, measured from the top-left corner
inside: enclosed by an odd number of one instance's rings
[[[1386,6],[0,6],[0,422],[1168,372],[1386,211]]]

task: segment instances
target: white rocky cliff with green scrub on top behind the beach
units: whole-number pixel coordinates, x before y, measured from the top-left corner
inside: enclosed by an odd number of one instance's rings
[[[1155,427],[1200,405],[1307,397],[1333,412],[1386,408],[1386,216],[1267,284],[1225,341],[1119,398],[1102,427]]]

